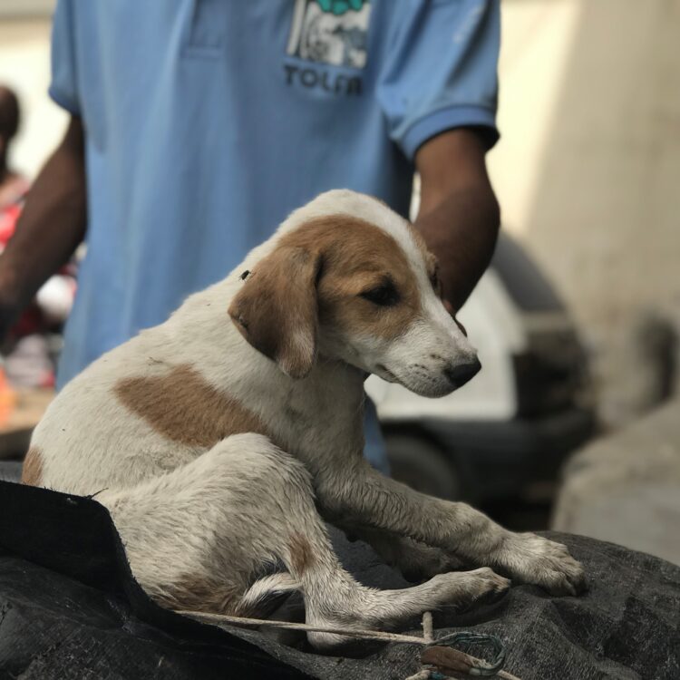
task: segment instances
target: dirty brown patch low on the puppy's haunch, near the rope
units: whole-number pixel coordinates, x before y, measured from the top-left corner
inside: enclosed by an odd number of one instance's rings
[[[238,588],[229,588],[219,579],[199,578],[190,575],[180,577],[175,583],[163,588],[162,594],[152,597],[161,607],[187,609],[238,616],[238,602],[242,595]]]

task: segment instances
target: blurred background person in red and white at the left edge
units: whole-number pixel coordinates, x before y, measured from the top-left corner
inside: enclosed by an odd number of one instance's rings
[[[0,85],[0,252],[15,228],[28,193],[29,183],[10,169],[9,150],[19,130],[19,100]],[[73,303],[75,280],[71,267],[62,267],[30,300],[15,323],[5,327],[2,355],[4,369],[16,387],[53,387],[54,364],[48,335],[60,328]]]

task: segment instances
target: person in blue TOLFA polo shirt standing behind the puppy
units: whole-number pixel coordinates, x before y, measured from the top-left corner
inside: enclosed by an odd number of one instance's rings
[[[71,121],[0,257],[0,333],[84,240],[63,385],[326,189],[408,215],[414,170],[458,309],[499,226],[499,5],[59,0],[50,94]]]

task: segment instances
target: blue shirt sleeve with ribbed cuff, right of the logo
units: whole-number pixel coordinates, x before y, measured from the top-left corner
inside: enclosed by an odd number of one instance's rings
[[[500,0],[420,0],[389,36],[377,95],[390,137],[413,160],[440,132],[479,127],[498,141]]]

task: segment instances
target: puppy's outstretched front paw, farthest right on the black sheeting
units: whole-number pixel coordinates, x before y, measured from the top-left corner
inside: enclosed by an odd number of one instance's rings
[[[586,575],[567,546],[536,534],[510,534],[503,543],[500,568],[513,579],[548,590],[550,595],[578,595],[586,589]]]

